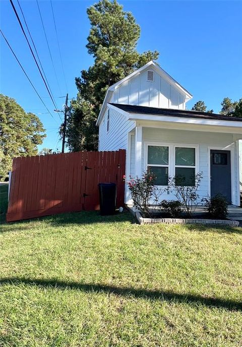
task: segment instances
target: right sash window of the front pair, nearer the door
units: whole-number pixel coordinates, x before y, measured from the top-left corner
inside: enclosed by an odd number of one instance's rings
[[[177,186],[194,186],[196,148],[175,147],[175,178]]]

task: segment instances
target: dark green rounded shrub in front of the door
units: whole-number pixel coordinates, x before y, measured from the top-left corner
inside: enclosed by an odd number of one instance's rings
[[[225,219],[228,214],[228,202],[222,194],[213,198],[204,198],[205,207],[212,218]]]

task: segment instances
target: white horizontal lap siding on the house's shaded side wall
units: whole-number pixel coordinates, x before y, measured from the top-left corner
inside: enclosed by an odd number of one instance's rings
[[[109,109],[109,131],[107,132],[107,110],[99,126],[99,151],[127,149],[128,133],[134,129],[135,122],[127,121],[118,111]]]

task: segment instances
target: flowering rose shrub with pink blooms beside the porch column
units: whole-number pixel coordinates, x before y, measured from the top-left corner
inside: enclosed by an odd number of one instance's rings
[[[124,177],[124,179],[126,179]],[[137,208],[144,217],[152,218],[153,213],[150,207],[155,209],[158,205],[158,199],[161,191],[154,185],[155,175],[151,174],[149,170],[143,173],[142,177],[129,177],[126,180],[131,197],[133,199],[134,207]]]

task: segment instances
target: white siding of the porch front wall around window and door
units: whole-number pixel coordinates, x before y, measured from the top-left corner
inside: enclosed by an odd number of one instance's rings
[[[199,195],[200,197],[207,196],[209,193],[210,179],[208,175],[208,163],[209,163],[209,147],[220,148],[226,147],[233,143],[232,135],[224,133],[211,133],[211,132],[197,132],[197,131],[180,131],[180,130],[168,130],[168,129],[156,129],[156,128],[143,128],[143,145],[142,145],[142,160],[143,168],[146,170],[146,163],[144,157],[144,143],[145,142],[162,142],[162,143],[175,143],[175,144],[194,144],[199,145],[199,171],[203,172],[203,179],[201,182]],[[230,146],[227,149],[230,149]],[[236,154],[236,153],[235,153]],[[134,156],[131,156],[131,167],[135,165]],[[232,181],[235,187],[235,180]],[[175,199],[172,194],[164,196],[167,200]]]

